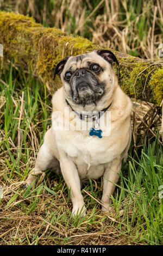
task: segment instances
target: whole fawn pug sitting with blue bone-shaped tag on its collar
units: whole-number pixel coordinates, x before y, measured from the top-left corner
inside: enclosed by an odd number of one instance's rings
[[[71,191],[73,215],[86,214],[80,181],[101,176],[102,211],[110,210],[122,159],[127,159],[132,105],[118,86],[113,62],[118,65],[111,51],[94,50],[64,58],[55,67],[54,78],[59,75],[62,87],[52,99],[52,127],[24,184],[29,186],[39,175],[44,178],[47,168],[61,172]],[[57,125],[58,120],[68,124],[66,129]]]

